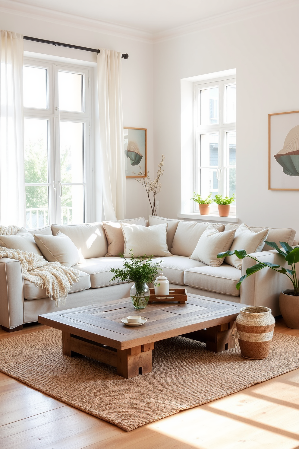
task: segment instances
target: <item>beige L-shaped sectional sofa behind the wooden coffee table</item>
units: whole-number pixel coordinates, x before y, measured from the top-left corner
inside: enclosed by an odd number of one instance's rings
[[[148,223],[144,219],[131,221],[150,226],[168,223],[167,245],[172,256],[156,257],[154,261],[162,260],[163,274],[168,277],[170,286],[186,286],[189,293],[204,295],[211,299],[265,305],[272,309],[274,316],[279,315],[279,293],[290,285],[286,276],[265,269],[247,278],[238,291],[236,284],[246,269],[252,265],[252,260],[244,259],[239,270],[225,262],[219,267],[211,267],[189,258],[208,223],[168,220],[163,217],[149,217]],[[237,227],[232,224],[214,225],[219,232]],[[258,232],[262,228],[251,229]],[[30,232],[56,235],[58,231],[67,235],[82,255],[82,261],[73,267],[79,270],[79,282],[71,287],[65,306],[55,308],[55,302],[47,297],[44,289],[23,280],[22,267],[18,260],[0,259],[0,325],[5,330],[20,329],[24,323],[37,321],[38,315],[43,313],[99,304],[103,299],[113,300],[130,296],[132,284],[110,282],[112,277],[110,269],[121,268],[123,259],[117,256],[106,257],[108,241],[102,223],[52,225]],[[295,242],[294,238],[293,229],[269,229],[267,240],[277,244],[284,241],[295,245],[298,242]],[[278,261],[281,264],[282,260],[276,251],[267,251],[268,249],[265,245],[255,256],[260,260],[275,263]]]

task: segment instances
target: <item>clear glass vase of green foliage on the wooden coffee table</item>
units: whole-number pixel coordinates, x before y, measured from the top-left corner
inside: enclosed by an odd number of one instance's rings
[[[130,290],[130,296],[134,308],[138,310],[147,306],[150,295],[147,284],[153,282],[158,270],[161,270],[160,263],[162,260],[153,264],[152,257],[134,257],[132,250],[130,253],[130,260],[124,262],[125,268],[112,268],[110,270],[114,274],[110,281],[119,279],[122,282],[134,282]],[[147,259],[146,262],[144,262],[145,259]]]

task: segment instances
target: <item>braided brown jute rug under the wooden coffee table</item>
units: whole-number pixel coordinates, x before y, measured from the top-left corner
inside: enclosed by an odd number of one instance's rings
[[[124,379],[104,363],[63,356],[56,329],[0,340],[0,371],[130,431],[295,370],[299,338],[274,333],[268,359],[247,360],[238,346],[216,354],[175,337],[155,343],[152,362],[152,373]]]

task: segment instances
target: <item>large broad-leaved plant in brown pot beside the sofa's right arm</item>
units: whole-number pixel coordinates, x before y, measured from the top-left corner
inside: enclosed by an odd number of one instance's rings
[[[279,242],[282,248],[279,248],[275,242],[265,242],[269,247],[274,248],[278,254],[287,262],[290,269],[286,269],[278,264],[272,264],[271,262],[260,262],[260,260],[247,254],[245,250],[234,250],[225,251],[217,255],[218,258],[222,259],[235,254],[239,259],[244,259],[244,257],[250,257],[251,259],[258,262],[250,268],[247,268],[246,274],[240,277],[240,281],[237,284],[237,289],[239,290],[242,282],[246,277],[253,273],[263,269],[270,268],[277,273],[282,273],[287,276],[293,284],[292,289],[283,290],[279,296],[279,308],[282,313],[282,317],[286,322],[286,326],[292,329],[299,329],[299,276],[296,273],[296,263],[299,262],[299,247],[290,247],[286,242]]]

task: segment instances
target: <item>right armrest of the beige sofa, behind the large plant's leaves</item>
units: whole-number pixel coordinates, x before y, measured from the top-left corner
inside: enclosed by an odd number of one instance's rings
[[[287,268],[287,263],[282,255],[276,250],[262,251],[251,254],[252,257],[260,260],[260,262],[271,262]],[[245,257],[242,260],[241,276],[246,274],[246,270],[258,262]],[[286,288],[292,288],[292,283],[288,277],[282,273],[276,273],[270,268],[263,268],[251,276],[247,277],[241,285],[241,303],[265,306],[272,310],[274,317],[280,315],[279,310],[279,294]]]

